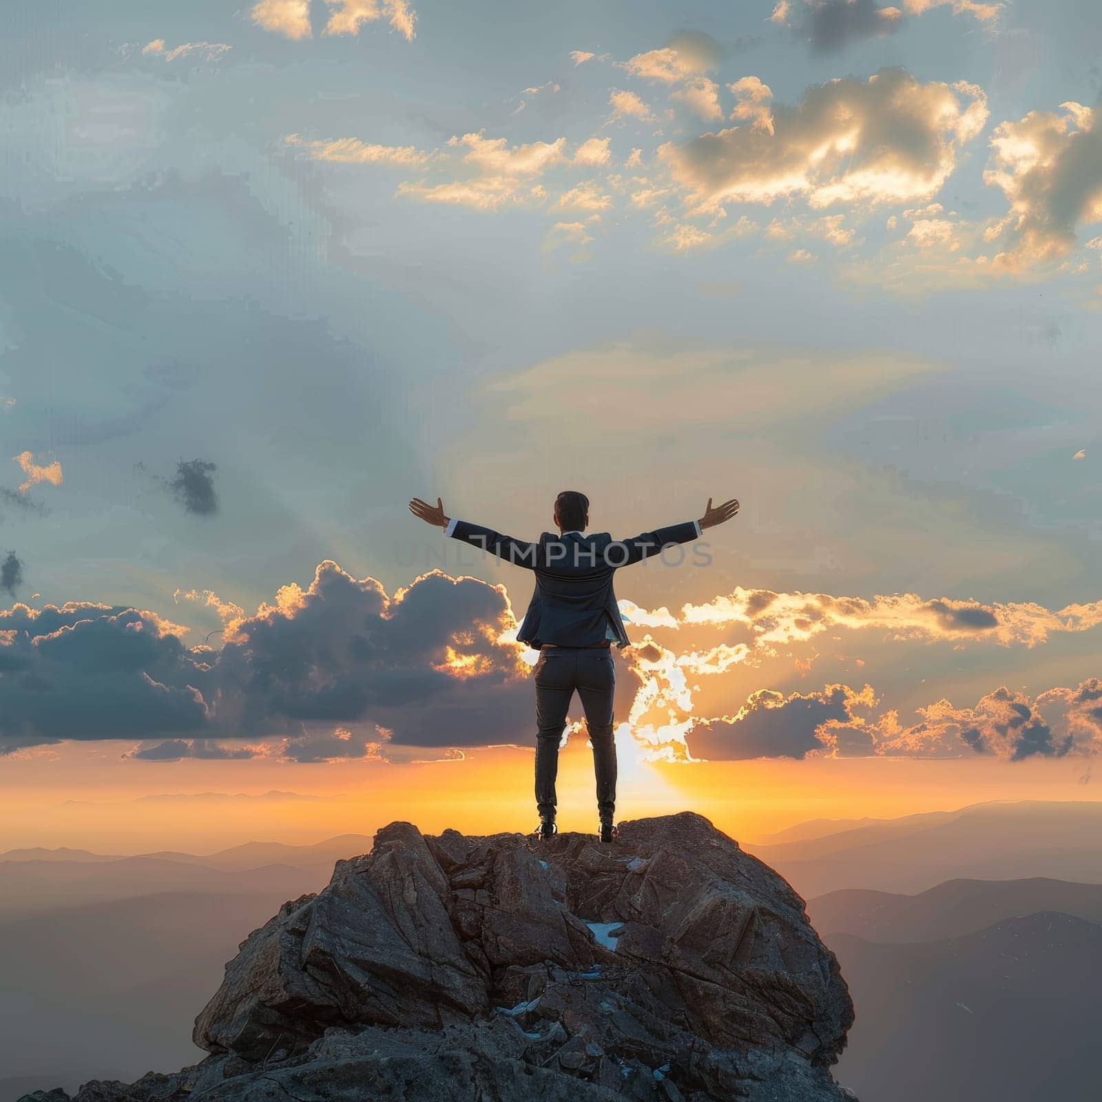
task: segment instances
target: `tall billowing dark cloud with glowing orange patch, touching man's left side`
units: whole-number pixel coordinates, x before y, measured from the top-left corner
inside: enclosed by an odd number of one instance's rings
[[[236,714],[223,722],[371,720],[414,746],[514,741],[530,689],[494,641],[512,623],[504,592],[474,579],[432,572],[389,598],[323,562],[293,615],[252,617],[227,640],[216,673]]]

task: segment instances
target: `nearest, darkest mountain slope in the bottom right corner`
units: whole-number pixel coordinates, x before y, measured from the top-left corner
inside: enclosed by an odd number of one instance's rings
[[[922,944],[823,940],[857,1012],[835,1073],[863,1102],[1098,1096],[1102,927],[1041,912]]]

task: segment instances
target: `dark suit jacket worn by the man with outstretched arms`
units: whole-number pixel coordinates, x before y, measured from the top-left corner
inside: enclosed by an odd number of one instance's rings
[[[543,532],[529,543],[465,520],[457,520],[452,530],[453,539],[536,572],[536,592],[517,634],[521,642],[536,649],[545,642],[598,647],[609,636],[617,646],[626,647],[630,640],[616,605],[613,574],[663,548],[688,543],[698,534],[691,520],[630,540],[614,540],[607,532]]]

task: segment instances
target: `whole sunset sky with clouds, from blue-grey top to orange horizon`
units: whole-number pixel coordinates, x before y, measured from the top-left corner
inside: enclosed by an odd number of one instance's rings
[[[413,495],[743,503],[618,576],[625,817],[1098,798],[1100,23],[14,0],[0,850],[530,829],[531,576]]]

